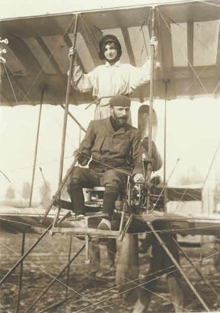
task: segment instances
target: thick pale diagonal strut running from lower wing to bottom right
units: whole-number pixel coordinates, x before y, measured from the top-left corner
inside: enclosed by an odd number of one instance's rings
[[[191,290],[194,292],[194,294],[196,295],[196,297],[198,298],[198,300],[200,301],[200,303],[202,304],[202,306],[205,308],[205,310],[207,312],[210,312],[209,307],[207,306],[207,304],[204,302],[204,300],[201,298],[201,296],[198,294],[197,290],[195,289],[195,287],[192,285],[192,283],[190,282],[190,280],[188,279],[188,277],[186,276],[185,272],[183,271],[182,267],[180,266],[180,264],[177,262],[177,260],[174,258],[174,256],[171,254],[171,252],[169,251],[169,249],[167,248],[167,246],[164,244],[163,240],[160,238],[160,236],[157,234],[157,232],[154,230],[153,226],[151,223],[148,223],[149,228],[151,229],[151,231],[153,232],[154,236],[157,238],[157,240],[159,241],[159,243],[161,244],[161,246],[163,247],[163,249],[165,250],[166,254],[169,256],[169,258],[171,259],[172,263],[175,265],[175,267],[177,267],[177,269],[179,270],[179,272],[181,273],[181,275],[184,277],[184,279],[186,280],[187,284],[189,285],[189,287],[191,288]]]

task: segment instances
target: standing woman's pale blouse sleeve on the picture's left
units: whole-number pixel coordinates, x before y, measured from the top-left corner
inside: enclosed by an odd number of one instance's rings
[[[94,87],[94,80],[94,70],[87,74],[84,74],[80,66],[73,67],[71,85],[75,90],[78,90],[80,92],[91,92]]]

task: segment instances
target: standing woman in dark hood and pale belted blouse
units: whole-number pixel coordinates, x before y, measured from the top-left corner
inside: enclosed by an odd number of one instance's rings
[[[157,47],[155,37],[151,44]],[[109,100],[115,95],[129,95],[137,87],[150,81],[150,58],[138,68],[130,64],[120,63],[121,44],[114,35],[105,35],[99,42],[99,58],[105,64],[97,66],[88,74],[84,74],[78,65],[77,53],[72,47],[69,56],[75,54],[71,84],[80,92],[92,92],[96,101],[95,120],[110,116]],[[131,124],[129,117],[128,124]]]

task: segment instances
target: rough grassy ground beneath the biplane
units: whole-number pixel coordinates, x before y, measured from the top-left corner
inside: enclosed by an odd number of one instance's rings
[[[25,251],[38,238],[37,235],[26,235]],[[21,234],[12,235],[1,233],[1,279],[16,264],[19,259]],[[83,245],[83,241],[78,239],[72,240],[71,257]],[[188,253],[193,261],[198,260],[200,248],[187,247],[184,250]],[[69,237],[55,236],[45,237],[33,249],[24,262],[23,273],[23,289],[20,302],[20,313],[26,312],[38,295],[48,286],[53,278],[65,267],[68,262]],[[130,313],[132,307],[126,304],[126,300],[118,295],[119,292],[115,286],[115,270],[108,267],[108,259],[106,251],[102,248],[101,271],[94,276],[92,270],[94,265],[84,264],[84,250],[77,256],[70,267],[69,288],[67,293],[67,301],[62,305],[53,308],[51,311],[59,313]],[[206,244],[203,249],[203,255],[211,255],[212,247]],[[140,275],[147,275],[148,271],[148,254],[140,255]],[[188,263],[186,259],[181,258],[181,264],[185,267]],[[199,264],[196,263],[198,266]],[[220,294],[220,276],[218,271],[213,267],[213,256],[207,257],[202,263],[202,273],[211,283],[218,294]],[[198,290],[201,297],[205,300],[211,311],[220,311],[220,301],[216,299],[215,294],[203,283],[201,278],[189,266],[185,271],[187,276]],[[16,312],[16,301],[18,293],[20,269],[7,278],[2,285],[1,290],[1,313]],[[55,304],[65,298],[66,278],[61,276],[59,282],[56,282],[48,292],[36,303],[32,312],[40,312],[50,305]],[[157,287],[157,294],[152,296],[149,307],[151,312],[172,312],[172,305],[167,290],[166,279],[162,277]],[[162,297],[162,298],[161,298]],[[86,298],[86,299],[85,299]],[[96,303],[96,305],[92,305]],[[184,282],[184,303],[185,311],[201,312],[204,311],[189,286]],[[218,309],[219,308],[219,309]]]

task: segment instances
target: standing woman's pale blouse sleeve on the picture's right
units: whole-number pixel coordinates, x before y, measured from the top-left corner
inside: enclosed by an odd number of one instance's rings
[[[129,93],[136,90],[137,87],[150,82],[150,58],[147,58],[142,67],[130,66],[129,72]]]

